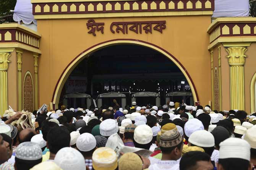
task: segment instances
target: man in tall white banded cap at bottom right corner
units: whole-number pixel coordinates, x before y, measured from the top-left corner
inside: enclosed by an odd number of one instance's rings
[[[250,144],[240,138],[220,143],[218,170],[250,170]]]

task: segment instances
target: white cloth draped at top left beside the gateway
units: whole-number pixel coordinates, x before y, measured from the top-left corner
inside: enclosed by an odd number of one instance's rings
[[[37,25],[34,15],[32,14],[32,3],[30,0],[17,0],[13,20],[16,22],[22,20],[24,24],[31,24],[31,22],[33,22]]]

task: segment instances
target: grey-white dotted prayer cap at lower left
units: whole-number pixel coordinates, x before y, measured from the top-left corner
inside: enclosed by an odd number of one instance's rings
[[[42,149],[37,143],[23,142],[18,145],[15,157],[23,160],[38,160],[42,158]]]

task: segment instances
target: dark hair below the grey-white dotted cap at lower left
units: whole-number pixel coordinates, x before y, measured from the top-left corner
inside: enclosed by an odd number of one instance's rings
[[[15,157],[15,170],[30,170],[30,168],[40,164],[41,162],[42,158],[37,160],[23,160]]]

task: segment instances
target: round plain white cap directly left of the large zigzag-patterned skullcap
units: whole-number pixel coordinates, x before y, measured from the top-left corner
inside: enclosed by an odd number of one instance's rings
[[[139,144],[147,144],[153,138],[152,129],[147,125],[137,126],[134,130],[133,138]]]

